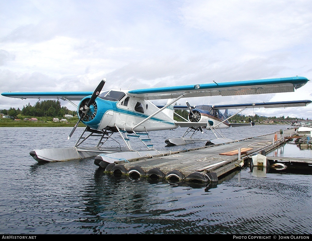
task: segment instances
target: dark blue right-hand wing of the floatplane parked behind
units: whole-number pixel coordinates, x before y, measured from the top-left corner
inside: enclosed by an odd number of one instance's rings
[[[278,101],[278,102],[260,102],[260,103],[244,103],[244,104],[226,104],[212,105],[213,109],[240,109],[240,108],[279,108],[279,107],[295,107],[306,106],[311,100],[294,100],[294,101]]]

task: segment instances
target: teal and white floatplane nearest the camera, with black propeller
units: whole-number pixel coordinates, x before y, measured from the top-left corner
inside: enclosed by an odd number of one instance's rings
[[[79,120],[68,136],[71,138],[78,124],[85,129],[72,148],[35,149],[30,155],[38,162],[55,162],[95,157],[95,164],[101,167],[115,161],[114,158],[131,159],[145,155],[168,154],[168,150],[156,150],[149,138],[149,132],[175,129],[178,127],[207,128],[207,120],[178,122],[173,119],[173,103],[181,98],[202,96],[232,96],[265,93],[294,92],[309,80],[305,77],[285,77],[233,82],[189,84],[169,87],[133,90],[106,90],[103,79],[93,92],[5,92],[2,96],[12,98],[62,99],[72,103],[78,110]],[[152,100],[167,99],[167,104],[157,107]],[[76,105],[73,101],[79,101]],[[192,110],[193,113],[195,109]],[[225,124],[225,123],[224,123]],[[221,124],[220,124],[221,126]],[[119,134],[124,145],[105,147],[112,135]],[[91,137],[98,138],[92,147],[82,144]],[[131,138],[144,144],[145,150],[135,150]]]

